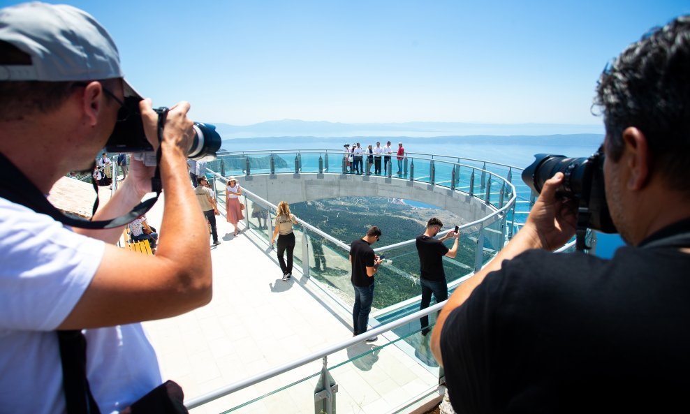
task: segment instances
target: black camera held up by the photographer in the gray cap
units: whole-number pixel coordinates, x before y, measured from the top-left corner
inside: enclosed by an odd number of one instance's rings
[[[126,96],[124,98],[124,106],[121,111],[126,111],[126,114],[124,116],[118,114],[118,119],[122,120],[115,124],[115,129],[105,144],[105,151],[149,153],[154,150],[144,134],[139,101],[141,101],[140,96]],[[156,109],[156,112],[161,114],[162,111]],[[214,160],[216,151],[221,147],[221,136],[216,132],[216,127],[212,124],[194,122],[193,128],[194,140],[187,153],[187,158],[198,161]],[[155,158],[153,157],[153,159]],[[149,164],[147,163],[147,165]]]

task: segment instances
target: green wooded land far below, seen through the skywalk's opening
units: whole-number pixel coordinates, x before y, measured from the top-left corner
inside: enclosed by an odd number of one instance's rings
[[[462,222],[457,216],[441,209],[411,207],[400,199],[392,198],[350,197],[314,200],[295,203],[291,205],[291,210],[295,216],[342,240],[345,244],[363,237],[370,226],[379,226],[383,234],[381,242],[374,244],[374,248],[417,237],[424,232],[426,221],[432,216],[441,218],[444,223],[453,223],[448,224],[446,228]],[[321,249],[337,251],[339,255],[344,256],[344,260],[347,260],[348,252],[342,251],[330,242],[321,243],[321,240],[314,235],[310,236],[313,236],[311,237],[312,249],[316,246],[316,251]],[[486,240],[485,243],[487,243]],[[452,242],[446,241],[446,246],[452,246]],[[475,248],[476,235],[461,235],[455,259],[444,259],[447,281],[458,279],[474,269]],[[374,306],[381,309],[420,295],[419,257],[416,246],[411,244],[379,252],[379,254],[386,256],[386,263],[376,274]],[[347,266],[344,260],[341,262]],[[351,289],[348,267],[346,269],[327,267],[321,270],[314,267],[314,263],[310,265],[311,274],[319,281],[336,288]],[[342,278],[346,278],[346,283]],[[349,290],[346,293],[351,295]]]

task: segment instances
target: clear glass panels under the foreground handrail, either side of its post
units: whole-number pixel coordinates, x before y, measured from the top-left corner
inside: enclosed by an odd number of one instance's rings
[[[439,366],[430,351],[430,335],[422,336],[418,325],[414,321],[386,332],[375,344],[355,343],[328,355],[326,378],[334,389],[337,385],[333,413],[388,412],[436,390]],[[211,401],[191,414],[325,413],[325,401],[314,397],[323,389],[322,361]]]

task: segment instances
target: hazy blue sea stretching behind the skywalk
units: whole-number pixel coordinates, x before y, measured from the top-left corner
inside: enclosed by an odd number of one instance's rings
[[[342,151],[344,144],[360,142],[362,147],[369,144],[381,146],[392,142],[397,149],[402,142],[406,152],[418,154],[435,154],[457,156],[476,160],[491,161],[517,168],[526,168],[534,161],[535,154],[555,154],[573,158],[587,157],[599,148],[603,134],[564,134],[564,135],[466,135],[443,137],[270,137],[270,138],[234,138],[223,140],[222,149],[228,151],[256,151],[270,149],[328,149]],[[406,201],[410,205],[415,202]],[[416,207],[420,207],[416,205]],[[624,245],[619,235],[606,235],[597,232],[595,254],[610,258],[616,249]]]

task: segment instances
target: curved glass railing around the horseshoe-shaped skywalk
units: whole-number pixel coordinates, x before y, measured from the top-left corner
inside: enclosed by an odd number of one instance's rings
[[[287,168],[286,158],[291,161],[291,168]],[[333,168],[333,162],[330,165],[325,163],[329,158],[337,159],[337,168]],[[405,168],[406,172],[391,177],[389,170],[388,177],[443,186],[467,193],[490,207],[489,213],[482,219],[460,226],[462,237],[458,254],[455,260],[448,259],[448,264],[455,269],[454,272],[449,272],[452,276],[449,276],[448,283],[456,283],[460,276],[480,269],[503,247],[506,239],[514,234],[513,224],[508,220],[513,216],[517,200],[515,186],[508,179],[476,166],[441,160],[427,161],[424,158],[407,159],[409,163]],[[415,176],[415,163],[425,165],[430,175]],[[230,175],[235,175],[238,179],[247,175],[294,174],[295,171],[300,174],[330,172],[342,175],[344,170],[341,153],[314,149],[219,153],[219,160],[208,163],[207,168],[223,182],[225,177]],[[252,193],[251,189],[247,188],[247,185],[251,188],[251,184],[243,185],[244,202],[247,206],[244,226],[268,243],[272,226],[264,226],[265,221],[260,220],[260,217],[265,216],[267,222],[272,224],[276,206]],[[219,186],[217,191],[220,195],[219,200],[224,200],[224,185]],[[404,198],[404,195],[400,195],[400,198]],[[295,262],[302,267],[304,274],[314,276],[332,295],[348,305],[351,304],[354,299],[349,281],[348,243],[344,242],[342,237],[328,235],[320,228],[302,220],[299,214],[297,216],[300,228],[295,231]],[[386,266],[379,270],[377,281],[393,288],[388,290],[386,295],[377,295],[374,302],[376,309],[395,306],[419,295],[419,263],[414,246],[414,237],[417,234],[410,234],[409,239],[403,242],[375,249],[379,255],[386,256]],[[358,237],[361,235],[351,235],[347,240],[349,242]]]

